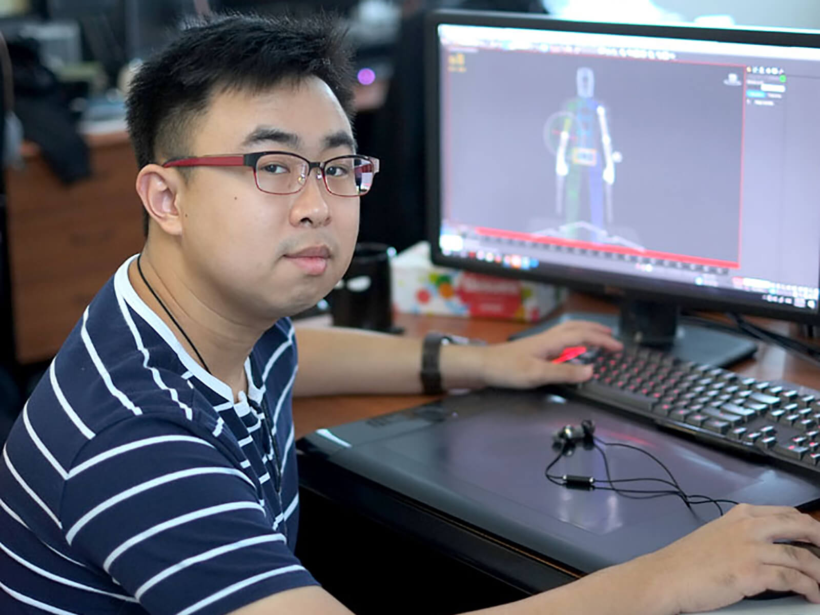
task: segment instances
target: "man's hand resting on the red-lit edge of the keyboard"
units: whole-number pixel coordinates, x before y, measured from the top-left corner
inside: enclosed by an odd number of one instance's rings
[[[481,379],[485,385],[528,389],[589,380],[591,367],[552,362],[564,348],[581,345],[611,352],[623,348],[608,326],[590,321],[566,321],[537,335],[475,349],[483,353]]]

